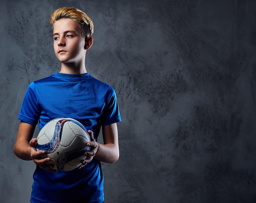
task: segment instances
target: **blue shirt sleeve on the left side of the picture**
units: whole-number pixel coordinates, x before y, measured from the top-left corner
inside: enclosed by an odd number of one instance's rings
[[[36,125],[40,116],[40,107],[36,98],[34,82],[31,83],[24,96],[18,119],[31,125]]]

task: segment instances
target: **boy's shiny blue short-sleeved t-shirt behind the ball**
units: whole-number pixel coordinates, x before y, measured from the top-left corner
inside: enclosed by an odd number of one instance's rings
[[[92,130],[97,140],[101,125],[121,121],[115,90],[90,74],[56,73],[31,83],[18,119],[39,129],[54,118],[69,117]],[[82,169],[52,173],[36,167],[32,203],[100,203],[104,200],[103,172],[93,159]]]

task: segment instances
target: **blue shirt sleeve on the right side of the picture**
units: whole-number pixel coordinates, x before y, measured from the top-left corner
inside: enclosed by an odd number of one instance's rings
[[[115,90],[110,86],[106,96],[106,106],[103,109],[102,125],[110,125],[121,121]]]

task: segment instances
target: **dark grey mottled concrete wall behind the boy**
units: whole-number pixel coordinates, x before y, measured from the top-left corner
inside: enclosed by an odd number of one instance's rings
[[[0,203],[29,202],[17,116],[29,83],[60,68],[48,19],[64,6],[92,18],[86,67],[119,100],[106,203],[256,202],[255,1],[0,0]]]

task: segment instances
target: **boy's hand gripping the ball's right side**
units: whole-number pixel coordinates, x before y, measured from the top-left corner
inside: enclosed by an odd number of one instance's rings
[[[82,165],[79,166],[79,169],[84,167],[86,164],[90,163],[92,161],[92,158],[96,155],[96,153],[99,150],[99,143],[95,141],[93,137],[93,132],[91,130],[88,130],[88,133],[91,137],[91,141],[87,143],[87,146],[90,146],[90,151],[85,152],[84,156],[87,156],[84,160],[81,161]]]

